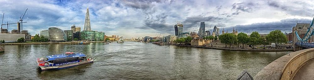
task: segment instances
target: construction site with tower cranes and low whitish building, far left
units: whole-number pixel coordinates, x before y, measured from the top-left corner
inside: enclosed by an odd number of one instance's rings
[[[4,19],[4,13],[3,13],[2,23],[1,23],[1,28],[0,28],[0,40],[5,40],[5,42],[15,42],[17,41],[17,39],[22,38],[22,37],[24,37],[25,41],[31,40],[31,35],[28,32],[28,30],[23,30],[23,23],[27,23],[27,22],[23,22],[23,18],[25,16],[27,9],[28,8],[26,8],[25,12],[19,16],[20,19],[16,23],[8,23],[7,21],[6,23],[3,24],[3,19]],[[11,24],[17,24],[17,28],[9,31],[9,26]],[[7,26],[7,28],[5,29],[3,26]]]

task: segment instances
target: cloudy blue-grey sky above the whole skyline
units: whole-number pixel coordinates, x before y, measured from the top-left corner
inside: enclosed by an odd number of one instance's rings
[[[0,0],[3,22],[15,23],[28,8],[23,30],[31,35],[49,27],[69,30],[75,24],[84,27],[89,8],[92,30],[105,35],[126,38],[174,35],[173,25],[183,24],[183,32],[198,31],[199,22],[205,29],[214,25],[239,32],[269,33],[280,29],[291,32],[298,23],[310,23],[314,17],[311,0]],[[212,26],[212,27],[210,27]],[[4,27],[6,28],[6,27]],[[11,24],[9,30],[16,29]]]

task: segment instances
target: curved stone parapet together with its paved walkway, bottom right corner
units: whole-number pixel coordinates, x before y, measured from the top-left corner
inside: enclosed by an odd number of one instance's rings
[[[254,80],[313,80],[314,48],[291,52],[268,64]]]

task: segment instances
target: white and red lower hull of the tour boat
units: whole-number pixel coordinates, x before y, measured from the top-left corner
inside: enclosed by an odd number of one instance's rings
[[[38,66],[38,67],[40,67],[41,70],[58,70],[58,69],[70,68],[70,67],[74,67],[80,64],[93,63],[93,62],[94,60],[89,60],[89,61],[76,62],[76,63],[66,64],[66,65],[61,65],[61,66],[53,66],[53,67]]]

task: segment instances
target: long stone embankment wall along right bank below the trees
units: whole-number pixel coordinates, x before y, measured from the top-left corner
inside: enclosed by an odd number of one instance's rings
[[[175,45],[175,44],[168,44]],[[221,47],[209,47],[209,46],[192,46],[192,45],[176,45],[176,46],[187,46],[196,48],[208,48],[217,50],[231,50],[231,51],[293,51],[293,49],[237,49],[237,48],[221,48]]]

